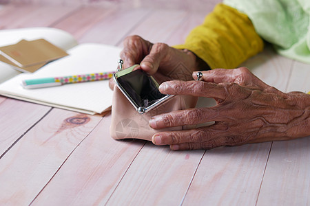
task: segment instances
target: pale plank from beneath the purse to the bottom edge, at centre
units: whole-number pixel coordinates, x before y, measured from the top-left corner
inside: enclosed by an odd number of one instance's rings
[[[107,205],[180,205],[204,152],[175,152],[148,142]]]

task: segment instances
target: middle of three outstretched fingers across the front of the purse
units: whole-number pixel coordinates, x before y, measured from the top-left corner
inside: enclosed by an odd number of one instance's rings
[[[189,108],[181,111],[173,111],[162,115],[156,115],[149,119],[149,126],[154,129],[174,126],[194,125],[205,122],[223,121],[223,117],[215,107]]]

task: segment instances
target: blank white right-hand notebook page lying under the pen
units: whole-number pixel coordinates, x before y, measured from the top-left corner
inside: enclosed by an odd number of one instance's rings
[[[121,48],[110,45],[77,45],[68,50],[69,56],[50,62],[35,73],[21,73],[3,82],[0,94],[73,111],[102,113],[112,104],[108,80],[41,89],[23,89],[21,80],[116,71],[120,52]]]

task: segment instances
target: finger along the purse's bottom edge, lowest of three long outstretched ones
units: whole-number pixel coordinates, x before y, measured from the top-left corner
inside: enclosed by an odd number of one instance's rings
[[[172,145],[183,143],[203,144],[203,142],[213,141],[225,136],[228,133],[225,124],[213,124],[192,130],[175,130],[156,133],[152,137],[153,144]]]

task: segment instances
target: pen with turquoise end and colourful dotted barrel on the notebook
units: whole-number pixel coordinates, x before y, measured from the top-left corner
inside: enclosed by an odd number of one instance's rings
[[[114,74],[114,71],[102,72],[102,73],[89,73],[89,74],[74,75],[74,76],[63,76],[63,77],[55,77],[55,78],[39,78],[39,79],[22,80],[21,86],[25,89],[55,87],[55,86],[61,86],[63,84],[108,80],[112,78],[113,74]]]

